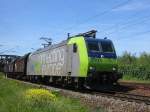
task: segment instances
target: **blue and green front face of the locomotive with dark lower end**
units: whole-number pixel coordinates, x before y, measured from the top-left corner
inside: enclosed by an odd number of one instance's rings
[[[88,53],[88,77],[94,83],[115,83],[118,74],[117,56],[114,45],[109,39],[86,38]]]

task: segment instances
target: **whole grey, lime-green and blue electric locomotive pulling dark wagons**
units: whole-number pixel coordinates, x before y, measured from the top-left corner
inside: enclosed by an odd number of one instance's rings
[[[112,41],[97,39],[95,30],[68,36],[59,44],[37,50],[27,55],[23,63],[27,80],[77,88],[113,85],[122,77]]]

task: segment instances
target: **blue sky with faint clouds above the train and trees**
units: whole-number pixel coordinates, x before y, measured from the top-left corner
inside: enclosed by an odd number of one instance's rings
[[[0,53],[23,55],[53,43],[98,30],[121,55],[150,53],[150,0],[0,0]]]

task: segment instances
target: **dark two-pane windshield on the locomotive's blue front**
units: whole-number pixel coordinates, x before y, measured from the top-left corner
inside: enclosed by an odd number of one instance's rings
[[[87,46],[91,52],[114,52],[110,41],[87,41]]]

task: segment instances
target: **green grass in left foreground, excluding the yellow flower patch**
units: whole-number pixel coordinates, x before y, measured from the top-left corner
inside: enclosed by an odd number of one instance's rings
[[[93,110],[77,99],[66,98],[55,92],[52,93],[56,95],[56,101],[26,103],[24,94],[33,88],[36,87],[5,79],[0,73],[0,112],[102,112],[101,109]]]

